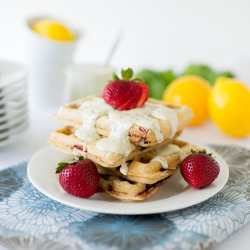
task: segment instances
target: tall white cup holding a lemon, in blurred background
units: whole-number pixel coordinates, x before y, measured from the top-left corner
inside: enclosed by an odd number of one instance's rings
[[[33,25],[41,19],[55,20],[48,17],[33,17],[26,23],[30,99],[35,105],[60,105],[65,85],[64,70],[72,64],[80,34],[70,28],[75,34],[72,41],[57,41],[43,37],[32,30]]]

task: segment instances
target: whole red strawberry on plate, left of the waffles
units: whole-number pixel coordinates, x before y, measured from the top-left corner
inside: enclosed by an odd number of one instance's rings
[[[88,159],[59,163],[57,172],[62,188],[69,194],[87,198],[98,190],[99,175],[95,164]]]

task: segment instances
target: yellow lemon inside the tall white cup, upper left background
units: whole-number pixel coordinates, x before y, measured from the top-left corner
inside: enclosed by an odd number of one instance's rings
[[[32,29],[41,36],[58,40],[71,41],[74,39],[73,33],[61,23],[51,20],[42,19],[34,24]]]

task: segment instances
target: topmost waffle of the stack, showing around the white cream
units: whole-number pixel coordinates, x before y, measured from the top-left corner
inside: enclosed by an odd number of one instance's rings
[[[54,118],[57,119],[63,125],[71,126],[74,128],[80,128],[82,126],[82,117],[84,112],[84,110],[81,110],[80,107],[86,101],[91,101],[94,98],[96,97],[91,96],[74,101],[66,106],[62,106],[60,107],[58,113],[54,116]],[[167,103],[155,99],[148,99],[148,102],[153,104],[161,104],[176,111],[178,119],[177,132],[183,130],[183,128],[189,124],[193,117],[193,112],[191,108],[187,106]],[[165,140],[171,134],[171,127],[169,122],[157,118],[154,119],[159,122],[160,129],[163,133],[163,140]],[[95,127],[100,135],[108,137],[111,129],[111,124],[108,115],[102,115],[97,118]],[[133,125],[129,129],[129,139],[132,143],[140,145],[142,147],[151,147],[158,144],[155,134],[151,129],[147,129],[138,125]]]

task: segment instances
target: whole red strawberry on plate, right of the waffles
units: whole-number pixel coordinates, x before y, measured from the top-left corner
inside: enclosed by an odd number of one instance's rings
[[[217,178],[220,166],[211,154],[206,153],[206,150],[198,153],[192,150],[192,154],[181,162],[180,171],[189,185],[195,189],[201,189]]]

